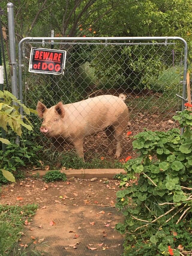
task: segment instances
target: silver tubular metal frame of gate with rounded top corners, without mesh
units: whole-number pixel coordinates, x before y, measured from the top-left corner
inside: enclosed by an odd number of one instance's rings
[[[19,44],[18,44],[18,69],[19,69],[19,100],[22,102],[23,95],[22,95],[22,44],[24,42],[42,42],[44,44],[45,42],[51,42],[51,41],[62,41],[62,43],[66,41],[104,41],[104,44],[107,45],[108,41],[164,41],[165,46],[168,44],[167,41],[169,40],[177,40],[181,41],[184,44],[184,60],[183,60],[183,81],[181,81],[183,85],[182,89],[182,110],[184,110],[184,104],[185,104],[185,98],[186,98],[186,85],[187,85],[187,42],[184,40],[184,38],[181,37],[26,37],[23,38]],[[134,43],[133,43],[134,44]],[[145,44],[145,43],[144,43]],[[147,44],[147,43],[146,43]],[[20,108],[20,113],[22,115],[22,108]],[[182,131],[183,132],[183,131]]]

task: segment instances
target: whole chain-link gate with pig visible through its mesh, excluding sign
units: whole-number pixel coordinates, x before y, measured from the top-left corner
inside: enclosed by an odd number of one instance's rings
[[[67,51],[64,74],[29,73],[31,48],[51,48],[51,40],[53,49]],[[85,161],[119,158],[120,145],[120,159],[133,156],[132,135],[176,126],[172,116],[184,107],[176,93],[183,86],[185,97],[186,71],[187,44],[179,37],[23,38],[19,97],[30,108],[38,101],[46,106],[38,105],[43,126],[38,116],[30,118],[30,139],[45,159],[54,158],[55,147],[71,154],[71,144]],[[60,101],[64,105],[47,110]]]

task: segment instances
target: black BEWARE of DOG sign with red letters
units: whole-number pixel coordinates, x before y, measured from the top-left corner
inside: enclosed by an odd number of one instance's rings
[[[66,51],[32,48],[29,72],[62,74],[65,67]]]

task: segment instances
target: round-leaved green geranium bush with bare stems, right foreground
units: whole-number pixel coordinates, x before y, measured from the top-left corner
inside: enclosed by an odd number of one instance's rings
[[[170,254],[173,252],[179,256],[181,246],[186,251],[192,248],[191,114],[184,110],[173,117],[185,127],[183,135],[179,129],[172,129],[145,131],[134,137],[133,148],[139,156],[125,163],[127,177],[120,186],[136,179],[136,174],[138,182],[118,191],[116,203],[125,216],[124,224],[117,224],[116,229],[128,233],[125,255],[173,255]],[[181,230],[185,236],[180,235]]]

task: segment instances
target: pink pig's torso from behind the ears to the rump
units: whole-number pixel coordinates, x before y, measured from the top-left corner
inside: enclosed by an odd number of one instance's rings
[[[122,114],[128,116],[125,102],[113,95],[101,95],[64,105],[66,117],[74,129],[88,136],[110,126]],[[120,122],[120,121],[119,121]]]

